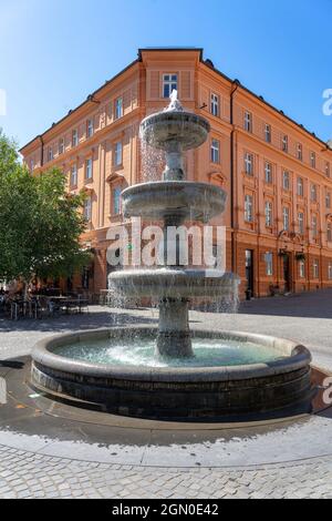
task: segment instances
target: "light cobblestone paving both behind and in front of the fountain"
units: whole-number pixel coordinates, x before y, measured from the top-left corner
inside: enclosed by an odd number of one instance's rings
[[[332,369],[331,297],[332,292],[322,292],[249,303],[237,317],[206,315],[199,327],[256,330],[293,338],[311,348],[317,364]],[[105,309],[96,307],[93,311],[86,317],[49,323],[0,320],[0,357],[27,355],[38,339],[56,331],[110,325]],[[155,319],[139,310],[131,315],[137,321]],[[200,314],[193,317],[203,323]],[[243,468],[162,468],[77,461],[1,445],[0,498],[332,499],[332,457]]]

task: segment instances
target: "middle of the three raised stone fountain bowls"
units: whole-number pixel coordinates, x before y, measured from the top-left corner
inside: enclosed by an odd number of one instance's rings
[[[122,193],[125,217],[177,218],[207,223],[224,213],[227,194],[207,183],[160,181],[136,184]]]

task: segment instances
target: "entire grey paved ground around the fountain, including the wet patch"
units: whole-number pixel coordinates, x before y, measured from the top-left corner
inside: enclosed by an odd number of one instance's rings
[[[302,341],[314,364],[329,370],[331,297],[332,292],[321,292],[264,299],[246,303],[236,317],[194,313],[191,319],[194,327]],[[313,316],[301,316],[301,306],[307,315],[313,308]],[[122,323],[132,318],[156,320],[146,310],[120,316]],[[113,321],[114,315],[100,307],[59,321],[0,320],[0,498],[332,497],[329,409],[255,425],[169,423],[73,408],[30,388],[25,355],[37,340]]]

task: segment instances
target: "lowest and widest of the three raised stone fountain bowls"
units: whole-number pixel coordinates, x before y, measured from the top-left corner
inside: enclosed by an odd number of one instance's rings
[[[204,297],[218,299],[234,297],[240,283],[232,273],[215,272],[208,276],[204,269],[162,267],[154,269],[125,269],[110,275],[110,283],[129,297],[158,297],[190,299]]]

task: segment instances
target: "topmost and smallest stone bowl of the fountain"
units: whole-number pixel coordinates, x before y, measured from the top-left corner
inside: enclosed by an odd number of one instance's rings
[[[141,137],[155,149],[166,152],[174,142],[183,150],[200,146],[206,142],[210,124],[205,118],[185,111],[165,111],[152,114],[141,123]]]

